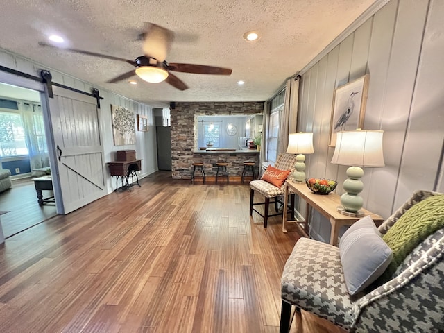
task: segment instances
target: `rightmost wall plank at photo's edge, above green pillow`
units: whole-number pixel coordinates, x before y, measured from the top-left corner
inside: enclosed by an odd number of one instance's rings
[[[403,191],[432,189],[439,173],[444,140],[443,16],[444,1],[431,1],[402,154],[398,201]]]

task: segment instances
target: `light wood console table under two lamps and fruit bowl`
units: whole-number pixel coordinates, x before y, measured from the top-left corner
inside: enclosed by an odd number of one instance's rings
[[[305,221],[291,221],[287,220],[287,203],[289,197],[289,189],[292,189],[296,195],[300,198],[304,199],[307,202],[307,213],[305,215]],[[285,223],[293,222],[296,223],[298,227],[298,231],[303,234],[305,237],[309,237],[308,235],[308,222],[310,217],[310,207],[313,207],[314,210],[320,212],[332,225],[332,230],[330,232],[330,244],[336,246],[338,244],[338,236],[339,229],[342,225],[352,225],[359,219],[360,217],[353,217],[343,215],[336,210],[338,206],[341,205],[340,196],[334,193],[330,193],[327,195],[323,194],[314,194],[311,189],[307,187],[305,183],[299,184],[296,182],[292,182],[291,180],[287,180],[285,182],[285,196],[284,196],[284,217],[282,218],[282,232],[287,232],[285,228]],[[368,210],[364,210],[364,216],[370,215],[376,225],[380,225],[384,219],[377,214],[373,214]],[[302,225],[304,227],[302,227]]]

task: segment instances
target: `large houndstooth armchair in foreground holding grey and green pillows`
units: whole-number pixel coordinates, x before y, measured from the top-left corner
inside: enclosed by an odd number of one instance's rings
[[[416,191],[390,216],[385,234],[411,206],[436,192]],[[282,274],[280,333],[289,332],[291,305],[349,332],[444,332],[444,229],[422,241],[392,280],[366,295],[350,296],[339,248],[301,238]]]

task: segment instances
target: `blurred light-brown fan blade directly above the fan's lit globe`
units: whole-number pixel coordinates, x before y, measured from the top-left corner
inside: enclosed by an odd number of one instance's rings
[[[157,24],[148,23],[143,37],[144,54],[155,58],[158,62],[163,62],[167,58],[171,42],[174,39],[173,31],[157,26]]]

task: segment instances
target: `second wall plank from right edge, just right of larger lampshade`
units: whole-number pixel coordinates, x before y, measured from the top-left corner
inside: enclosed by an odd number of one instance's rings
[[[422,44],[422,34],[427,15],[427,0],[422,1],[400,1],[396,26],[391,44],[391,54],[386,72],[384,94],[382,95],[382,105],[379,110],[373,110],[372,114],[377,114],[374,119],[374,126],[384,129],[384,154],[386,167],[372,169],[373,178],[378,182],[370,184],[370,196],[368,204],[376,203],[379,200],[378,188],[375,185],[384,187],[386,197],[386,212],[396,209],[405,200],[401,196],[402,202],[390,200],[395,197],[399,182],[398,170],[400,168],[401,157],[404,154],[403,146],[406,138],[406,128],[409,121],[409,110],[415,86],[416,73],[418,70],[418,60]],[[377,123],[379,121],[379,123]],[[414,189],[403,189],[405,194],[411,193]]]

